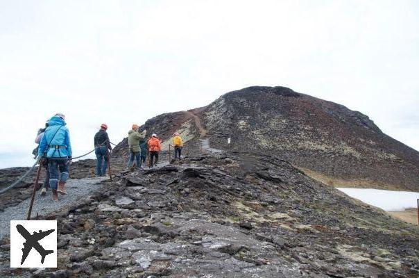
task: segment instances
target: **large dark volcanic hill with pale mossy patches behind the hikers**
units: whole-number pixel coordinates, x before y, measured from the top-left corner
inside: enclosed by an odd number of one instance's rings
[[[219,149],[277,156],[332,186],[419,191],[419,152],[360,112],[289,88],[228,92],[203,108],[153,117],[142,128],[158,133],[165,149],[180,131],[187,154],[207,138]]]

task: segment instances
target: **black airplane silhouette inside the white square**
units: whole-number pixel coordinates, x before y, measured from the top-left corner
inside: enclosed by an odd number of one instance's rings
[[[44,247],[42,247],[40,243],[38,243],[38,241],[42,240],[42,238],[48,236],[55,230],[54,229],[51,229],[48,231],[40,230],[39,233],[34,231],[33,234],[31,235],[31,233],[29,233],[28,230],[26,230],[21,224],[17,224],[16,229],[17,231],[19,231],[19,234],[21,234],[26,239],[26,242],[24,242],[24,248],[22,248],[23,254],[22,254],[22,261],[20,262],[20,264],[22,265],[24,263],[29,252],[31,252],[32,247],[35,248],[35,250],[38,253],[40,253],[41,263],[43,264],[45,260],[45,256],[53,253],[53,250],[44,250]]]

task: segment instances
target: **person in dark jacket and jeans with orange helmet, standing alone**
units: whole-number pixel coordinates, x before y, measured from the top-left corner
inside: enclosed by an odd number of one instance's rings
[[[112,151],[107,124],[101,124],[101,129],[94,135],[94,154],[96,154],[96,177],[103,177],[108,168],[109,153]],[[109,149],[109,153],[108,153]]]

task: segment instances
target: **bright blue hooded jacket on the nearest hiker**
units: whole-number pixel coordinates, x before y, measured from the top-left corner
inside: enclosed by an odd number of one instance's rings
[[[49,126],[46,128],[40,142],[38,154],[44,154],[48,158],[71,156],[69,129],[67,129],[64,120],[60,117],[53,116],[49,120]]]

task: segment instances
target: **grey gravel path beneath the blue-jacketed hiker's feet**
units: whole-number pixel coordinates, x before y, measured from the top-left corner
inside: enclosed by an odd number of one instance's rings
[[[88,178],[88,179],[69,179],[66,184],[67,195],[59,195],[59,202],[53,202],[51,199],[51,190],[48,190],[45,196],[40,196],[38,190],[33,202],[32,216],[37,213],[45,215],[53,211],[74,203],[77,199],[90,195],[95,190],[102,187],[101,181],[108,179],[106,177]],[[10,234],[10,220],[26,220],[29,203],[28,198],[17,206],[9,206],[0,213],[0,238]]]

